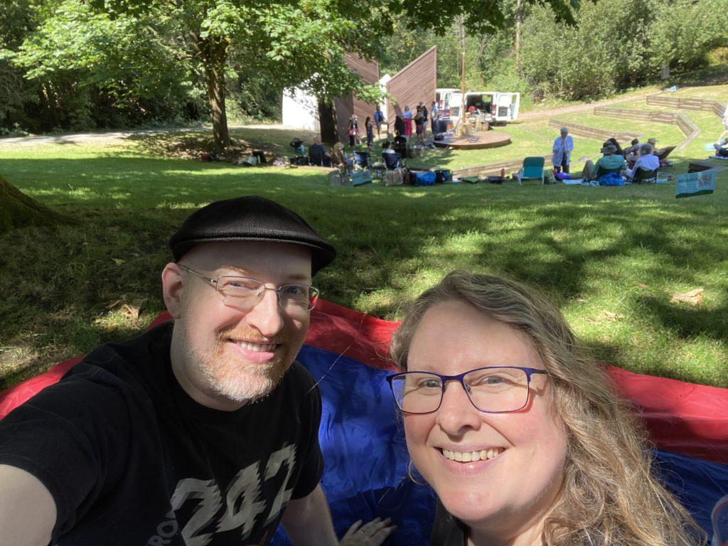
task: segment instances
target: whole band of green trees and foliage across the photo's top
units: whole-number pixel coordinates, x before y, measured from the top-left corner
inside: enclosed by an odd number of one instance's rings
[[[4,0],[0,134],[274,119],[285,87],[376,98],[344,51],[395,71],[438,45],[438,83],[588,98],[728,46],[725,0]],[[521,55],[515,21],[521,15]],[[576,23],[571,25],[569,23]],[[462,34],[465,34],[464,42]],[[223,127],[218,127],[222,129]],[[224,137],[215,132],[216,138]]]

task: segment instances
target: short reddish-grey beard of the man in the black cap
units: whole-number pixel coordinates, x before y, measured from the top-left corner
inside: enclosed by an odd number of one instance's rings
[[[191,347],[189,335],[184,320],[176,321],[179,328],[180,340],[185,360],[190,368],[197,368],[215,395],[226,397],[237,403],[250,403],[269,395],[288,371],[293,362],[284,351],[275,355],[267,363],[250,363],[236,357],[232,352],[229,339],[258,339],[256,331],[242,333],[240,328],[218,332],[215,339],[215,351],[200,351]],[[266,340],[273,343],[282,343],[277,338]],[[289,347],[284,344],[284,347]],[[289,349],[290,350],[290,349]],[[290,361],[289,361],[290,360]]]

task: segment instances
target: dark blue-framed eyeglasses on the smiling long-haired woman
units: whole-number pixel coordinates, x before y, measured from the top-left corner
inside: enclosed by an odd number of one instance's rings
[[[407,414],[431,414],[438,411],[448,381],[457,381],[479,411],[506,414],[529,403],[531,376],[546,373],[535,368],[491,366],[443,376],[428,371],[408,371],[387,376],[392,395],[400,410]]]

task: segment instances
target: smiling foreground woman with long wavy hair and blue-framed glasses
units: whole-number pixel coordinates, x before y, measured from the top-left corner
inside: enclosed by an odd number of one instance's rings
[[[392,356],[407,447],[438,496],[432,546],[705,543],[602,367],[530,288],[448,274]]]

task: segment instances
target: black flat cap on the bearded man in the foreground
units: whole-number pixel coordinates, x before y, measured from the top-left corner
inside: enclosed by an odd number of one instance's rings
[[[195,245],[235,241],[302,245],[311,249],[312,274],[336,258],[336,248],[319,237],[301,216],[257,195],[217,201],[194,211],[170,238],[170,248],[179,261]]]

